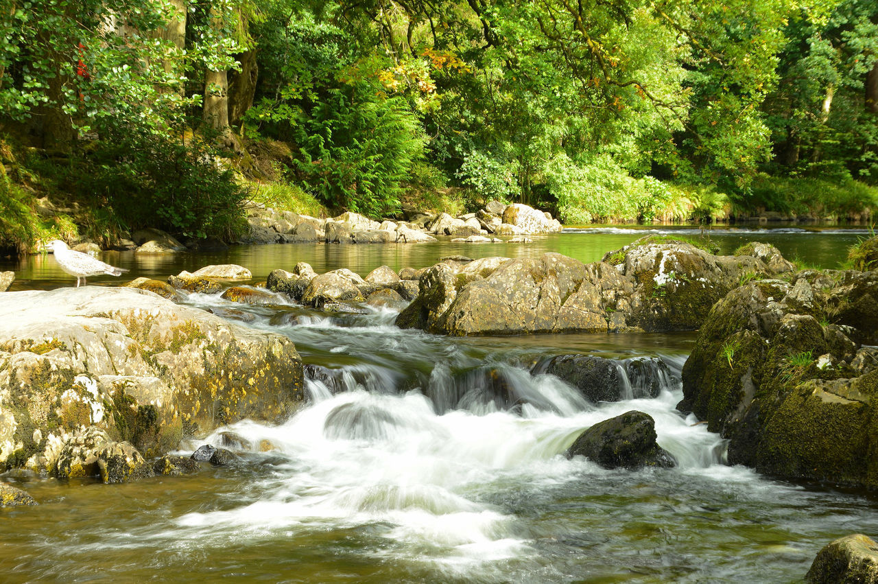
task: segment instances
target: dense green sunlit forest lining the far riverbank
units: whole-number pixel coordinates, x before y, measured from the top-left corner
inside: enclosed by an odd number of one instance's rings
[[[878,0],[0,0],[0,248],[878,206]],[[51,209],[51,213],[47,209]]]

